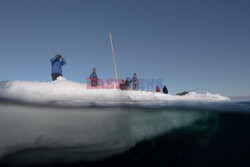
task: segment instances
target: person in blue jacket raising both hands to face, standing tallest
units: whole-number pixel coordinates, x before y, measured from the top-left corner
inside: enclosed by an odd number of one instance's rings
[[[56,54],[50,59],[50,62],[52,66],[51,77],[52,81],[54,81],[57,77],[62,76],[62,66],[66,64],[66,61],[61,55]]]

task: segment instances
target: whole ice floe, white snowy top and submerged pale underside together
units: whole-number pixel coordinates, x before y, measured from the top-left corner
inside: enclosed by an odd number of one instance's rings
[[[88,89],[86,84],[63,77],[53,82],[2,81],[0,165],[104,159],[138,142],[206,120],[212,114],[187,112],[169,105],[229,100],[210,93],[175,96]],[[166,105],[167,108],[155,107]],[[10,159],[4,161],[8,156]]]

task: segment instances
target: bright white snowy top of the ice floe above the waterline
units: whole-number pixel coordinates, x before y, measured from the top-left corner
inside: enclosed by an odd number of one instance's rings
[[[6,81],[0,82],[0,97],[25,102],[63,104],[126,104],[126,103],[193,103],[220,102],[230,98],[219,94],[198,94],[185,96],[165,95],[148,91],[121,91],[119,89],[88,89],[86,84],[68,81],[59,77],[54,82]]]

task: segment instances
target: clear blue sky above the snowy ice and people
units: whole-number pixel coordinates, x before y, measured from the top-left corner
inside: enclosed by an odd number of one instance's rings
[[[250,1],[1,0],[0,81],[50,81],[49,59],[86,82],[93,67],[114,78],[162,78],[170,93],[199,88],[250,95]]]

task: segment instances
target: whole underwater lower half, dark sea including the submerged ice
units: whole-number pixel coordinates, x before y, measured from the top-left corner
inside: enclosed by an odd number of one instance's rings
[[[66,107],[1,100],[0,166],[250,166],[250,101]]]

